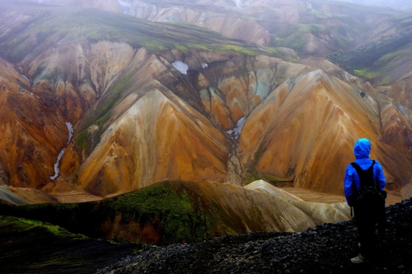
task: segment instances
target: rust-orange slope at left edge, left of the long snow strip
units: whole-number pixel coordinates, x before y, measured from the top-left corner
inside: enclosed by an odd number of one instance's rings
[[[0,184],[39,188],[54,175],[68,129],[50,97],[37,96],[13,65],[0,59],[0,67]]]

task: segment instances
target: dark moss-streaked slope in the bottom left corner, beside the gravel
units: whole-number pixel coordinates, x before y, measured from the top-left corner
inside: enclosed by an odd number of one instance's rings
[[[0,216],[0,273],[94,273],[139,245],[95,240],[40,221]]]

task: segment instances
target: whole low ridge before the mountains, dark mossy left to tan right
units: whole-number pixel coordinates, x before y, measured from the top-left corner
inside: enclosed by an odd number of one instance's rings
[[[135,192],[77,204],[0,205],[0,214],[48,222],[93,238],[166,245],[226,234],[303,231],[349,220],[349,207],[309,203],[222,183],[163,181]]]

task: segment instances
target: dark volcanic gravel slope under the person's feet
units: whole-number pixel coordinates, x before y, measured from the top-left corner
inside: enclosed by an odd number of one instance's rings
[[[350,261],[359,247],[357,229],[349,221],[301,233],[259,232],[190,245],[146,246],[96,273],[412,273],[412,200],[386,207],[386,221],[379,255],[361,264]]]

